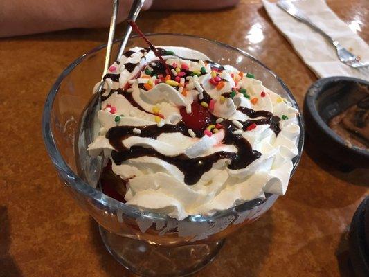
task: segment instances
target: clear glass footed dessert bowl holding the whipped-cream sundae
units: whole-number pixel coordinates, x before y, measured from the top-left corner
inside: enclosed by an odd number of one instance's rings
[[[265,87],[278,93],[298,109],[285,84],[263,64],[247,53],[208,39],[188,35],[153,34],[158,46],[196,49],[210,60],[252,72]],[[115,44],[118,46],[118,43]],[[146,47],[139,37],[129,40],[127,48]],[[43,133],[46,148],[71,195],[100,224],[100,233],[108,251],[127,269],[142,276],[185,276],[208,264],[224,238],[245,224],[257,220],[276,201],[278,195],[265,194],[213,215],[189,215],[183,220],[141,211],[94,188],[100,175],[99,157],[90,157],[87,144],[93,123],[85,118],[91,89],[99,80],[105,46],[89,51],[73,62],[55,82],[46,99]],[[300,114],[296,117],[300,134],[298,155],[292,160],[291,175],[298,166],[303,149],[304,129]],[[96,128],[94,128],[96,129]],[[90,139],[90,140],[89,140]]]

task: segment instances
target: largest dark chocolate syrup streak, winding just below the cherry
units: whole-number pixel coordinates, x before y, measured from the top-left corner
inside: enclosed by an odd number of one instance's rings
[[[134,134],[133,129],[138,128],[141,129],[141,134]],[[251,144],[249,141],[244,139],[241,135],[232,134],[231,129],[234,129],[233,125],[227,120],[224,124],[225,128],[225,136],[223,143],[228,145],[235,145],[237,148],[237,153],[233,152],[215,152],[208,156],[197,157],[197,158],[189,158],[186,154],[179,154],[174,157],[165,156],[159,152],[157,152],[153,148],[143,148],[141,146],[132,146],[127,149],[123,145],[123,139],[126,139],[129,136],[141,136],[141,137],[150,137],[156,139],[157,136],[163,133],[174,133],[180,132],[185,136],[188,136],[187,130],[188,128],[182,122],[177,125],[164,125],[159,128],[156,125],[149,125],[144,127],[134,127],[134,126],[117,126],[112,127],[107,132],[107,139],[109,139],[109,143],[116,149],[116,151],[111,152],[111,157],[117,165],[123,163],[128,159],[134,159],[138,157],[148,156],[148,157],[156,157],[167,163],[170,163],[179,170],[183,172],[184,182],[191,186],[197,183],[201,176],[208,172],[213,163],[219,161],[220,159],[229,159],[231,163],[228,168],[231,169],[240,169],[245,168],[250,163],[255,161],[261,156],[261,153],[253,150],[251,148]]]

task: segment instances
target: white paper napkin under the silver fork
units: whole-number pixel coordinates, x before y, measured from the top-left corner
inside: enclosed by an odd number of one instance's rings
[[[329,76],[350,76],[369,80],[369,69],[352,69],[339,61],[336,48],[309,26],[294,19],[276,3],[262,0],[269,17],[280,32],[285,35],[300,55],[305,64],[321,78]],[[369,62],[369,47],[366,42],[354,33],[323,0],[293,1],[296,8],[302,10],[311,21],[328,35],[338,40],[361,60]]]

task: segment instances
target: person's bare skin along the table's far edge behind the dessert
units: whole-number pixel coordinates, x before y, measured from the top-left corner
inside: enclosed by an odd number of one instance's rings
[[[120,1],[118,21],[128,14],[133,0]],[[239,0],[146,0],[144,10],[211,10],[235,6]],[[87,4],[88,3],[88,4]],[[29,35],[70,28],[109,26],[109,0],[2,0],[0,37]]]

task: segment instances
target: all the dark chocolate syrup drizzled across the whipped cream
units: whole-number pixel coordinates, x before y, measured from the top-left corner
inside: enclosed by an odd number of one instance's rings
[[[149,51],[150,48],[144,48],[141,50],[142,53],[145,53],[145,51]],[[157,50],[161,53],[161,55],[168,55],[167,51],[163,48],[157,48]],[[123,55],[126,57],[131,56],[134,53],[134,51],[127,51]],[[172,54],[170,54],[172,55]],[[179,57],[178,55],[175,55],[176,57]],[[179,57],[182,58],[183,57]],[[191,59],[186,59],[191,60]],[[198,62],[199,60],[192,59],[193,61]],[[152,75],[160,75],[165,74],[166,66],[164,66],[161,62],[154,62],[154,66],[152,65],[152,62],[150,62],[150,67],[152,67]],[[216,70],[224,70],[224,67],[220,64],[216,64],[211,61],[206,61],[210,63],[210,67],[212,69]],[[137,64],[133,63],[125,63],[125,69],[127,71],[132,72],[134,68],[137,66]],[[172,68],[172,66],[170,66]],[[185,71],[186,76],[190,75],[192,71]],[[107,74],[105,78],[111,78],[114,82],[118,82],[119,80],[119,74]],[[138,86],[140,87],[140,85]],[[143,88],[143,85],[140,87]],[[107,100],[109,96],[111,96],[112,93],[117,92],[118,94],[123,95],[132,106],[137,107],[141,111],[145,111],[138,103],[134,100],[132,97],[132,93],[127,93],[125,89],[112,89],[109,92],[108,96],[102,96],[102,100]],[[203,92],[204,98],[199,100],[209,102],[211,100],[210,95],[204,91]],[[260,119],[251,119],[246,120],[242,123],[242,129],[246,130],[249,125],[255,123],[256,125],[270,125],[273,132],[276,133],[276,135],[280,132],[280,118],[278,116],[273,116],[273,114],[269,111],[255,111],[253,109],[249,109],[246,107],[238,107],[238,111],[241,111],[243,114],[246,114],[249,116],[249,118],[258,118],[262,117]],[[147,111],[145,111],[147,112]],[[149,114],[152,114],[150,112],[147,112]],[[215,123],[215,120],[217,118],[215,116],[212,116],[211,121]],[[160,134],[163,133],[174,133],[174,132],[180,132],[184,136],[189,136],[188,134],[188,127],[183,123],[183,121],[180,121],[176,125],[170,125],[165,124],[163,127],[158,127],[155,125],[147,125],[147,126],[116,126],[109,129],[109,131],[106,134],[107,139],[109,139],[109,143],[114,147],[115,150],[111,152],[111,157],[117,165],[120,165],[123,163],[123,161],[127,161],[128,159],[134,159],[138,157],[156,157],[163,161],[166,161],[167,163],[170,163],[181,172],[183,172],[184,175],[184,181],[187,185],[191,186],[193,184],[196,184],[197,181],[201,178],[202,175],[204,175],[205,172],[208,172],[213,164],[220,159],[228,159],[230,163],[228,164],[228,168],[232,170],[237,170],[240,168],[245,168],[250,163],[258,159],[262,154],[256,150],[253,150],[251,147],[251,144],[249,141],[244,139],[244,137],[241,134],[233,134],[233,131],[235,131],[235,126],[231,123],[230,120],[224,120],[223,123],[223,129],[224,129],[224,139],[222,141],[223,144],[227,145],[234,145],[235,148],[237,148],[237,153],[233,152],[215,152],[213,154],[210,154],[205,157],[197,157],[197,158],[189,158],[186,156],[186,154],[179,154],[174,157],[168,157],[165,156],[159,152],[157,152],[153,148],[143,148],[141,146],[132,146],[131,148],[127,149],[123,145],[123,140],[127,139],[129,136],[140,136],[140,137],[149,137],[156,139]],[[141,134],[136,134],[133,132],[133,129],[140,129]],[[201,132],[195,132],[195,135],[198,138],[201,138],[203,134]]]

